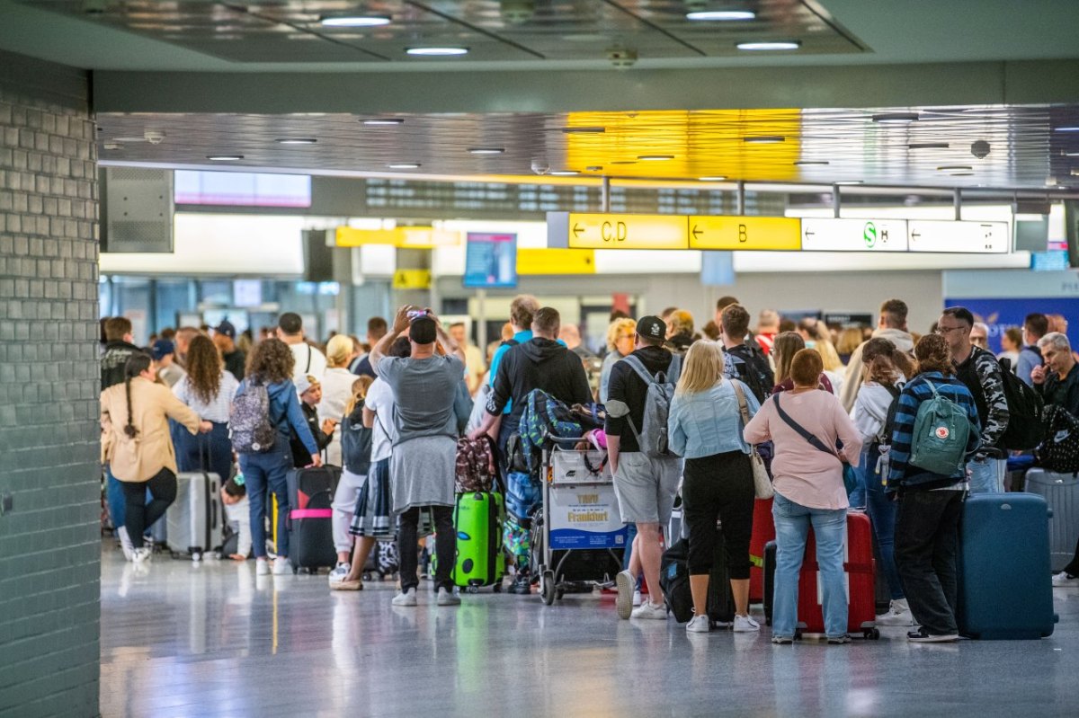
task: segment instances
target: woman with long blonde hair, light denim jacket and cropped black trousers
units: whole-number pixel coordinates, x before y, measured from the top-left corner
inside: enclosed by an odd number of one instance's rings
[[[723,378],[723,347],[696,342],[686,353],[668,419],[670,447],[685,458],[682,507],[689,528],[689,590],[694,618],[689,633],[707,633],[708,575],[715,550],[715,522],[723,538],[735,598],[734,630],[749,633],[760,624],[749,615],[749,541],[753,533],[753,469],[742,439],[760,405],[739,379]]]

